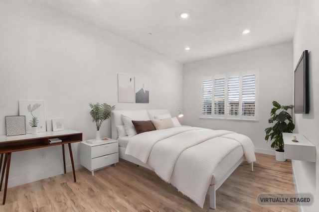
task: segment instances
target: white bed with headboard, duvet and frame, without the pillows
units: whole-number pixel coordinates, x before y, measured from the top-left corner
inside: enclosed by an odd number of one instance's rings
[[[254,146],[247,136],[238,133],[184,126],[119,138],[117,126],[124,124],[121,115],[132,120],[152,120],[167,113],[167,109],[114,110],[112,138],[119,141],[119,157],[155,171],[201,208],[207,193],[210,208],[215,209],[216,190],[231,173],[245,160],[253,171]],[[189,163],[194,160],[199,164]]]

